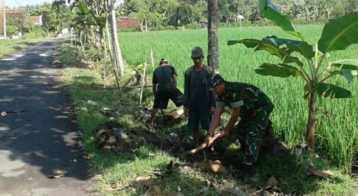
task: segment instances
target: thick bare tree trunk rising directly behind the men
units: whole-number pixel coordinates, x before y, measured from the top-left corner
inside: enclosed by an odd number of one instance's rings
[[[208,1],[208,65],[219,71],[218,0]]]

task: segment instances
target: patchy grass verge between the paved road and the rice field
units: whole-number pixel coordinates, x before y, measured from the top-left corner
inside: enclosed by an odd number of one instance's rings
[[[62,58],[69,58],[66,53],[71,53],[68,48],[63,47]],[[80,58],[80,55],[76,55]],[[71,57],[72,58],[72,57]],[[62,61],[62,60],[61,60]],[[78,61],[78,60],[75,60]],[[69,62],[71,63],[71,62]],[[100,65],[98,65],[100,66]],[[89,160],[91,171],[96,174],[98,183],[96,189],[100,195],[143,195],[148,188],[143,188],[133,184],[133,180],[140,176],[152,176],[148,171],[153,169],[162,169],[164,175],[162,178],[154,178],[154,182],[163,190],[167,189],[176,192],[177,186],[180,186],[184,195],[198,195],[198,191],[207,186],[207,181],[214,184],[210,192],[204,195],[218,195],[216,188],[238,186],[244,189],[248,195],[262,187],[265,181],[271,176],[276,176],[279,181],[278,187],[284,192],[292,190],[304,195],[355,195],[357,180],[353,180],[348,175],[342,175],[340,169],[331,168],[334,173],[332,179],[322,179],[306,175],[306,171],[300,164],[297,164],[296,157],[266,157],[264,162],[259,163],[256,172],[260,178],[252,185],[241,185],[231,175],[236,170],[236,165],[229,168],[228,175],[216,175],[211,172],[188,167],[174,168],[172,173],[165,172],[166,165],[170,160],[183,164],[177,157],[173,156],[168,149],[155,148],[150,143],[144,142],[132,134],[133,128],[145,129],[145,118],[141,118],[139,106],[125,106],[121,103],[136,104],[139,101],[137,90],[122,91],[122,100],[119,101],[117,90],[100,90],[103,86],[101,71],[98,69],[69,67],[64,69],[63,81],[73,99],[75,111],[77,114],[77,124],[82,132],[83,149]],[[127,69],[130,72],[130,69]],[[113,79],[113,75],[109,75]],[[128,77],[128,76],[126,76]],[[111,81],[108,80],[107,81]],[[123,80],[124,82],[125,80]],[[106,85],[112,85],[108,82]],[[145,103],[151,107],[152,97],[150,92],[146,91]],[[101,112],[103,107],[110,109],[109,115]],[[138,149],[132,149],[131,152],[122,152],[120,154],[103,154],[95,143],[94,133],[99,125],[113,118],[114,121],[122,125],[122,129],[130,138],[135,138],[132,142],[139,142]],[[138,120],[139,119],[139,120]],[[170,132],[178,133],[178,129],[185,125],[185,121],[175,122],[174,125],[166,126],[163,130],[157,130],[156,135],[167,136]],[[190,135],[187,130],[180,134]],[[220,140],[221,141],[221,140]],[[222,140],[225,143],[225,140]],[[237,152],[235,145],[229,145],[227,152],[230,159],[237,160],[240,163],[243,155]],[[113,190],[122,188],[119,190]],[[110,190],[112,189],[112,190]]]

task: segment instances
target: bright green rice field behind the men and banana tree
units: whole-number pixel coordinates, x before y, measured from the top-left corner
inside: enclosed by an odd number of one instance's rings
[[[316,43],[323,26],[298,26],[306,41]],[[294,38],[277,27],[247,27],[219,29],[220,74],[228,81],[246,82],[261,88],[275,105],[272,114],[275,135],[287,145],[303,141],[307,122],[307,103],[303,99],[303,81],[300,78],[263,77],[254,69],[264,62],[277,63],[277,57],[267,52],[253,52],[244,45],[227,46],[230,39],[256,38],[276,35]],[[183,90],[184,71],[192,65],[191,48],[201,46],[207,50],[207,30],[136,32],[118,34],[124,60],[129,66],[143,62],[150,64],[150,47],[153,49],[155,67],[161,58],[167,58],[178,73],[178,86]],[[333,52],[328,61],[358,59],[358,45],[346,51]],[[206,60],[204,60],[206,64]],[[328,63],[328,62],[327,62]],[[151,78],[149,67],[148,77]],[[358,80],[348,84],[343,77],[329,83],[338,84],[353,92],[353,99],[319,99],[317,103],[316,151],[327,158],[331,165],[349,173],[358,154]]]

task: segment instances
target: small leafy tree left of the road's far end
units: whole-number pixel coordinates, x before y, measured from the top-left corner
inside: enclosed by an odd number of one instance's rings
[[[42,27],[47,32],[47,37],[50,37],[50,30],[56,27],[56,12],[51,9],[51,4],[43,3],[38,14],[42,15]]]

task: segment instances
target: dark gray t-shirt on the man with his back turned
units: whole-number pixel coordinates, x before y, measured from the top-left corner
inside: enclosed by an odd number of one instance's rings
[[[176,74],[175,68],[171,65],[162,65],[153,72],[152,83],[158,84],[157,90],[175,89],[172,76]]]

